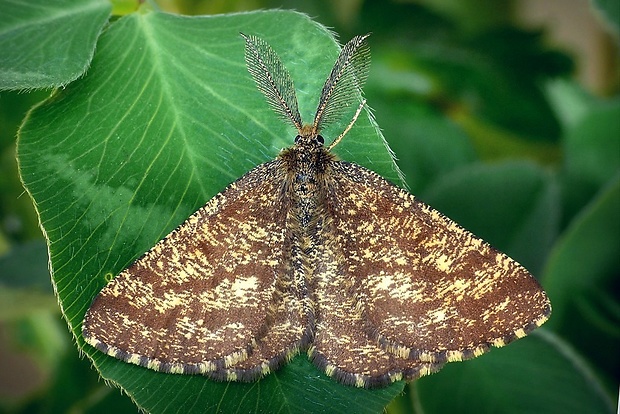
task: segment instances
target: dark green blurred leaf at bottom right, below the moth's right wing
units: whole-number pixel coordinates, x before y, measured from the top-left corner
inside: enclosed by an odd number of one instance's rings
[[[614,412],[582,358],[544,328],[411,386],[426,414]]]

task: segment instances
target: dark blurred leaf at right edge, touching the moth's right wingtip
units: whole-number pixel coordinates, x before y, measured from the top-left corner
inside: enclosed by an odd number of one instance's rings
[[[620,369],[618,274],[620,173],[570,223],[542,278],[554,309],[549,327],[610,376]]]

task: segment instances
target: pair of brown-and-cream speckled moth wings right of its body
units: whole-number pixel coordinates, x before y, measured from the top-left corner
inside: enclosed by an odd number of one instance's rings
[[[323,254],[337,252],[326,273],[339,280],[317,288],[313,350],[328,372],[367,385],[411,379],[547,319],[549,301],[521,265],[374,172],[330,164],[325,227],[336,237]]]

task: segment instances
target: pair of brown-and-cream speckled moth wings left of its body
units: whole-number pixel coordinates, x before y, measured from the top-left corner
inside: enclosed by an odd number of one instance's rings
[[[291,285],[279,160],[211,199],[112,280],[86,314],[86,342],[172,373],[254,380],[308,341]]]

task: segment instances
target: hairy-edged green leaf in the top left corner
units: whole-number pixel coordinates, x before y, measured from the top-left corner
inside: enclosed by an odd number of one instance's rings
[[[0,0],[0,90],[63,86],[83,75],[110,17],[106,0]]]

